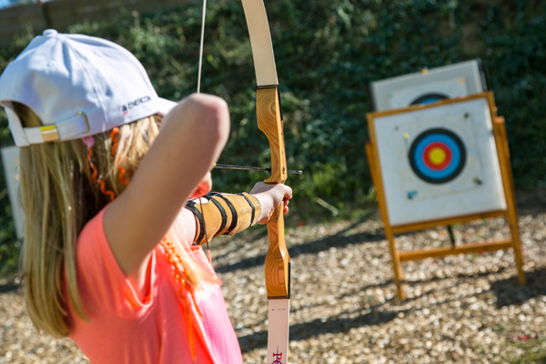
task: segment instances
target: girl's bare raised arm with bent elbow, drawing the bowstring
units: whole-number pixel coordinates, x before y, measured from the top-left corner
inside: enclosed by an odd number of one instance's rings
[[[149,254],[217,161],[228,134],[224,100],[188,96],[163,118],[159,135],[130,185],[107,208],[108,243],[127,277],[139,286]]]

